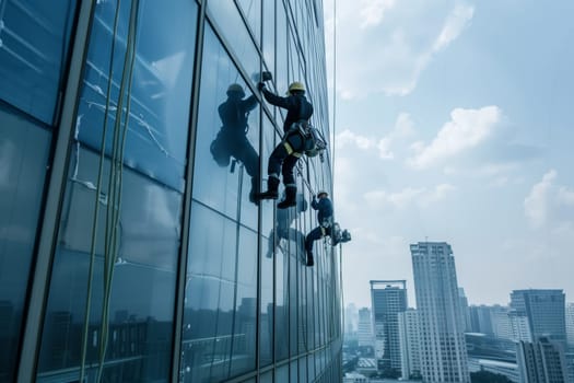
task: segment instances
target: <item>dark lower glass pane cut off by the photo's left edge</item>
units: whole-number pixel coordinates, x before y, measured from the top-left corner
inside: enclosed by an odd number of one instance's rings
[[[14,381],[49,131],[0,105],[0,381]]]

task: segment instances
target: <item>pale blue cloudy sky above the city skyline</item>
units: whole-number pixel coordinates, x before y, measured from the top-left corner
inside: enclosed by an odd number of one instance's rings
[[[528,288],[574,302],[574,1],[324,10],[345,304],[406,279],[415,306],[424,241],[453,246],[470,304]]]

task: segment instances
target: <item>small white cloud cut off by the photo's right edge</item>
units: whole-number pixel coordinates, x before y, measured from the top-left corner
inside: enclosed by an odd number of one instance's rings
[[[525,216],[534,228],[570,227],[573,223],[574,190],[555,185],[557,178],[558,172],[549,170],[524,199]]]

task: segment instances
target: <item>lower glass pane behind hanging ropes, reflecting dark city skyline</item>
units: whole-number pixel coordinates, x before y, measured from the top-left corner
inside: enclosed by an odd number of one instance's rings
[[[103,347],[103,380],[119,374],[136,381],[165,381],[171,367],[181,195],[124,169],[122,198],[114,201],[105,160],[97,232],[92,234],[99,155],[82,147],[75,154],[70,164],[75,175],[67,184],[51,272],[38,381],[62,380],[70,368],[78,376],[82,363],[94,379]],[[114,206],[119,213],[116,229],[110,214]],[[107,272],[105,265],[109,265]],[[106,280],[110,285],[104,289]],[[82,361],[87,300],[87,356]]]

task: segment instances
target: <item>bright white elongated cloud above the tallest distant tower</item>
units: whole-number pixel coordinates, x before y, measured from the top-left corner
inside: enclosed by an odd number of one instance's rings
[[[502,112],[497,106],[480,109],[456,108],[450,113],[450,120],[441,128],[430,144],[412,144],[417,154],[408,160],[408,164],[414,169],[426,169],[477,147],[491,136],[501,119]]]

